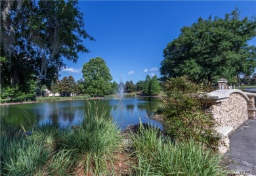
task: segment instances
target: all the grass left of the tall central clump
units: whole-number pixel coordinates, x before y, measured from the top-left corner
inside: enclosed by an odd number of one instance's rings
[[[1,124],[0,175],[74,175],[76,156],[63,147],[68,129],[42,124],[30,132]]]

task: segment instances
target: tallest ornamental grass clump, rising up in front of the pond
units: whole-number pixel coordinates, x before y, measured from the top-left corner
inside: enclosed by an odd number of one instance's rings
[[[122,149],[121,130],[100,102],[88,102],[88,109],[81,124],[68,136],[66,147],[74,150],[78,166],[85,173],[108,175],[114,166],[116,153]]]

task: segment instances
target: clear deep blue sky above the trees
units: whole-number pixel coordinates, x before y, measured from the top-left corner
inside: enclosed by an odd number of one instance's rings
[[[123,82],[134,83],[146,75],[161,77],[163,49],[183,26],[210,15],[224,18],[236,7],[242,17],[256,15],[256,1],[79,1],[85,29],[96,41],[84,41],[91,52],[79,53],[77,63],[64,60],[60,79],[82,79],[83,64],[96,57],[106,62],[112,81],[119,82],[121,75]]]

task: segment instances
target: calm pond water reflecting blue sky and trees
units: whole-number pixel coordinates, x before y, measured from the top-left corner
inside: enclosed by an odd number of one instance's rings
[[[62,126],[79,124],[85,113],[96,105],[100,111],[104,106],[106,113],[113,116],[121,129],[129,124],[150,123],[162,129],[156,120],[152,120],[154,111],[160,105],[157,97],[138,97],[131,99],[98,99],[51,101],[18,105],[1,105],[1,120],[14,127],[22,124],[25,128],[46,122],[59,122]]]

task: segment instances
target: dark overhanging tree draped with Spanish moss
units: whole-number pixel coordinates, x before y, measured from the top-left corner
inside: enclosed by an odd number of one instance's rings
[[[1,84],[24,91],[37,79],[49,88],[63,58],[77,62],[79,52],[89,52],[83,39],[93,40],[77,1],[1,1]]]

